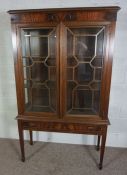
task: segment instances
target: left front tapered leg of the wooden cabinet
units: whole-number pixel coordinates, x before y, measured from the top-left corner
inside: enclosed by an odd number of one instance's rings
[[[25,162],[25,152],[24,152],[24,133],[22,122],[18,120],[18,130],[19,130],[19,141],[20,141],[20,149],[21,149],[21,160]]]

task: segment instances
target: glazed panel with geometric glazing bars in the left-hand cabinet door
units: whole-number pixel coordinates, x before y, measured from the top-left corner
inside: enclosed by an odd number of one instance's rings
[[[25,110],[56,112],[56,30],[22,29]]]

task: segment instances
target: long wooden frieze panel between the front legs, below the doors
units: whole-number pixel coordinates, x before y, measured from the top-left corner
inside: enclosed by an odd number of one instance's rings
[[[87,125],[79,123],[62,123],[62,122],[38,122],[30,121],[23,122],[25,130],[37,131],[52,131],[52,132],[69,132],[69,133],[82,133],[82,134],[101,134],[103,126]]]

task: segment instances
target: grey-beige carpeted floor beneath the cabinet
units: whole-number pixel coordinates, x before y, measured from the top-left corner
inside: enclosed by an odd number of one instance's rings
[[[0,139],[0,175],[127,175],[127,149],[106,148],[102,170],[94,146],[25,142],[25,151],[23,163],[18,140]]]

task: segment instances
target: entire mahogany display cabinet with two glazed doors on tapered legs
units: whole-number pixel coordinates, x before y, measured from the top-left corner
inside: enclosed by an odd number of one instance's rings
[[[119,7],[11,10],[22,161],[23,131],[97,135],[102,168]]]

